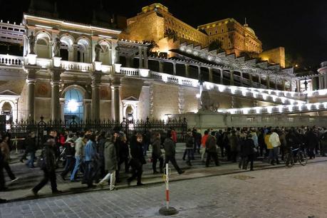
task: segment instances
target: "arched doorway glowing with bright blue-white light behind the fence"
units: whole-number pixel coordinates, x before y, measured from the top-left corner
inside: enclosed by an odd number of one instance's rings
[[[63,116],[68,123],[73,119],[79,123],[84,117],[83,94],[77,88],[70,88],[65,93]]]

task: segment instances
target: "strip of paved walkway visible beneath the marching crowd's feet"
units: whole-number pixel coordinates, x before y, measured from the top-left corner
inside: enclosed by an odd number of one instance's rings
[[[177,144],[177,154],[176,154],[176,160],[178,165],[182,168],[182,170],[185,170],[185,173],[182,175],[178,175],[174,167],[170,165],[171,168],[171,176],[170,181],[178,181],[178,180],[192,180],[194,178],[199,177],[211,177],[216,175],[227,175],[227,174],[233,174],[233,173],[239,173],[244,172],[244,170],[239,170],[238,163],[231,163],[222,160],[220,161],[220,166],[215,167],[214,163],[211,162],[211,166],[214,167],[205,167],[204,163],[201,162],[199,154],[195,154],[195,160],[192,160],[192,167],[188,167],[185,163],[185,161],[182,160],[182,154],[184,152],[185,145],[183,144]],[[151,152],[148,152],[148,155],[150,155]],[[33,188],[43,177],[43,171],[40,170],[38,167],[30,169],[25,166],[25,162],[21,163],[19,162],[19,157],[22,154],[15,154],[15,151],[11,154],[11,170],[14,172],[16,177],[19,177],[19,180],[16,182],[10,182],[9,177],[6,175],[6,172],[4,172],[4,175],[6,177],[6,185],[9,187],[9,190],[6,192],[0,192],[0,197],[3,199],[8,199],[11,201],[20,201],[20,200],[26,200],[26,199],[34,199],[33,194],[31,192],[31,188]],[[149,158],[147,158],[149,159]],[[147,160],[146,159],[146,160]],[[316,157],[314,160],[308,160],[308,164],[313,162],[321,162],[321,161],[327,161],[327,157]],[[157,164],[159,165],[159,163]],[[299,164],[295,165],[301,166]],[[123,165],[122,165],[123,167]],[[276,167],[285,167],[285,165],[282,163],[281,165],[270,165],[266,162],[262,161],[255,161],[254,162],[254,170],[266,170]],[[63,181],[61,179],[60,173],[62,172],[63,168],[60,168],[57,170],[57,184],[58,184],[58,190],[63,191],[63,194],[74,194],[74,193],[81,193],[81,192],[93,192],[96,190],[109,190],[108,185],[100,188],[96,187],[93,189],[87,189],[86,185],[82,185],[81,182],[70,182],[68,180],[68,177],[66,181]],[[70,174],[68,174],[69,176]],[[120,172],[121,181],[116,187],[119,189],[121,188],[127,188],[128,184],[126,179],[130,176],[129,174],[123,173],[123,169]],[[151,185],[151,184],[157,184],[164,182],[162,175],[153,175],[152,174],[152,163],[148,162],[147,164],[143,166],[143,175],[142,175],[142,183],[145,185]],[[135,186],[136,182],[131,184],[131,187]],[[46,185],[40,192],[38,192],[39,197],[49,197],[53,196],[51,194],[51,187],[50,183]]]

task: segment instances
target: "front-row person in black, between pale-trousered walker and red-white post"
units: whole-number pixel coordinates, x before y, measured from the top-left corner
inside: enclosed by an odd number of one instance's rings
[[[143,173],[143,165],[146,164],[145,158],[143,155],[143,137],[140,133],[136,135],[136,141],[130,144],[130,155],[132,158],[130,159],[130,167],[132,167],[133,174],[131,177],[128,178],[128,185],[132,182],[135,178],[137,178],[137,186],[144,185],[142,180],[142,173]]]

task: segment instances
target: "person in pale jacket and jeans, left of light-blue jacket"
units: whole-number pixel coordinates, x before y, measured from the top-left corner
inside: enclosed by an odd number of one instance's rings
[[[81,167],[85,156],[85,136],[84,132],[78,133],[78,139],[75,141],[75,167],[71,173],[71,182],[76,181],[76,175]]]

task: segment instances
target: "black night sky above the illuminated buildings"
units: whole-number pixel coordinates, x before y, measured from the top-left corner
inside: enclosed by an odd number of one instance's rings
[[[51,1],[51,0],[48,0]],[[42,1],[44,4],[44,0]],[[59,16],[87,22],[100,0],[58,0]],[[131,17],[142,6],[159,2],[178,19],[197,27],[219,19],[234,18],[254,29],[263,48],[284,46],[286,54],[302,61],[304,66],[318,66],[327,61],[327,1],[113,1],[103,0],[106,11]],[[0,0],[0,19],[20,22],[27,11],[28,0]]]

